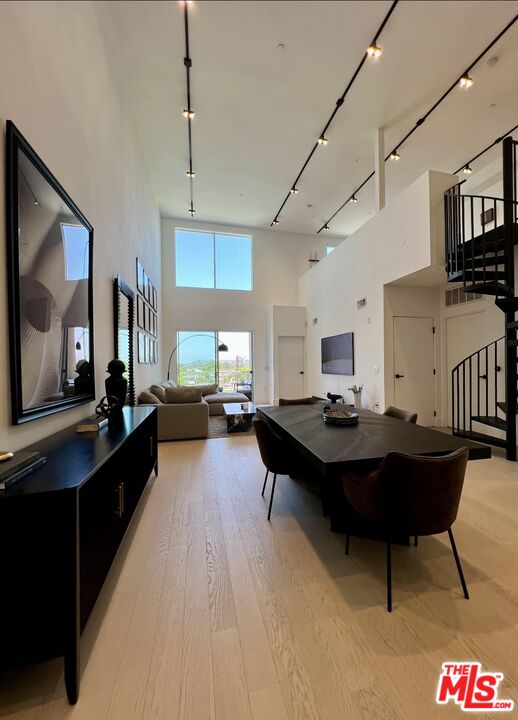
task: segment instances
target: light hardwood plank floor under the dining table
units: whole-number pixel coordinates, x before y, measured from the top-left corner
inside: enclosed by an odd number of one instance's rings
[[[455,525],[471,600],[447,536],[422,538],[394,548],[390,615],[384,546],[346,558],[305,485],[279,478],[267,522],[253,436],[161,444],[83,633],[79,702],[55,660],[0,675],[0,717],[460,718],[435,704],[445,660],[503,672],[518,702],[518,466],[497,453],[469,464]]]

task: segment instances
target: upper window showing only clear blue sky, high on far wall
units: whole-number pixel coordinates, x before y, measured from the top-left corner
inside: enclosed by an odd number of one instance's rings
[[[175,230],[176,285],[216,290],[252,289],[252,238]]]

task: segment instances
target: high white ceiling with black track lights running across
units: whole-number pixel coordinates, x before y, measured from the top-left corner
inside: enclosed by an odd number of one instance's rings
[[[391,3],[205,2],[189,6],[196,219],[270,227]],[[183,3],[96,3],[108,52],[164,216],[189,218]],[[288,200],[279,230],[315,233],[518,13],[518,1],[400,2]],[[490,61],[490,62],[488,62]],[[452,172],[518,124],[518,22],[386,163],[387,200],[427,169]],[[518,136],[518,133],[517,133]],[[496,148],[474,164],[493,183]],[[333,220],[354,232],[374,183]]]

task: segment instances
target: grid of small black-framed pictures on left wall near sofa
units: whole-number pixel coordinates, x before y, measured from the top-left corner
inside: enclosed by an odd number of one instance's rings
[[[139,363],[158,363],[158,293],[137,258],[137,359]]]

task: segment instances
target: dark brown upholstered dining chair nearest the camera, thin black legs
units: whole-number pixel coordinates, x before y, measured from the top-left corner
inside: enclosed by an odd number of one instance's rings
[[[344,475],[345,496],[353,509],[380,528],[387,543],[387,610],[392,611],[391,538],[447,532],[464,597],[469,599],[451,526],[457,517],[469,451],[441,457],[390,452],[370,475]],[[349,554],[349,535],[345,553]]]

